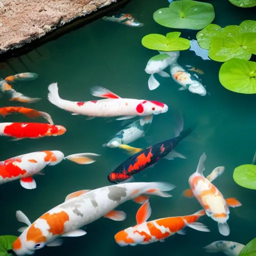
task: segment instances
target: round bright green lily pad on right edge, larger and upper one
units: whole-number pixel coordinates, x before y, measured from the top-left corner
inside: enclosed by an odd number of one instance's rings
[[[228,90],[244,94],[256,93],[256,62],[254,61],[230,59],[221,65],[218,77],[220,83]]]

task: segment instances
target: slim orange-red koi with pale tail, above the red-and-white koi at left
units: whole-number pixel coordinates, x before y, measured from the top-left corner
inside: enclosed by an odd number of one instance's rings
[[[24,114],[30,118],[36,118],[39,116],[42,116],[45,118],[50,124],[53,124],[53,121],[48,113],[42,112],[42,111],[37,111],[32,108],[27,108],[23,106],[5,106],[5,107],[0,107],[0,115],[5,117],[8,114],[11,113],[20,113]]]

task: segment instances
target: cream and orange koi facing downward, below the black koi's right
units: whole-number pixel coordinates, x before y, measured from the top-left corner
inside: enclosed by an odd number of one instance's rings
[[[196,171],[189,177],[188,183],[192,194],[205,209],[206,215],[218,223],[218,230],[222,235],[229,234],[227,220],[229,218],[229,208],[241,206],[235,198],[224,199],[220,191],[203,176],[203,163],[206,154],[200,156]]]

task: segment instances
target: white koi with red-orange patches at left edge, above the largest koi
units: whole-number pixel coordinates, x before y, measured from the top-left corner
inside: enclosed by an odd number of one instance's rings
[[[45,150],[14,156],[0,161],[0,184],[19,179],[22,187],[33,189],[36,188],[36,182],[32,178],[32,175],[43,175],[44,173],[41,170],[46,165],[58,164],[63,159],[68,159],[79,164],[88,164],[95,161],[91,158],[91,155],[98,154],[78,153],[64,157],[61,151]]]

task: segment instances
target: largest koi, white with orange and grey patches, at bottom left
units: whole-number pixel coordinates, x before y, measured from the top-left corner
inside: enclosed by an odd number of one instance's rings
[[[16,211],[18,221],[27,226],[19,228],[22,233],[13,242],[12,250],[18,255],[33,254],[43,246],[62,244],[61,236],[81,236],[82,229],[100,217],[121,221],[125,212],[114,210],[127,200],[147,195],[169,197],[174,186],[165,182],[133,182],[109,185],[93,190],[79,190],[66,196],[65,201],[37,218],[33,223],[20,210]]]

